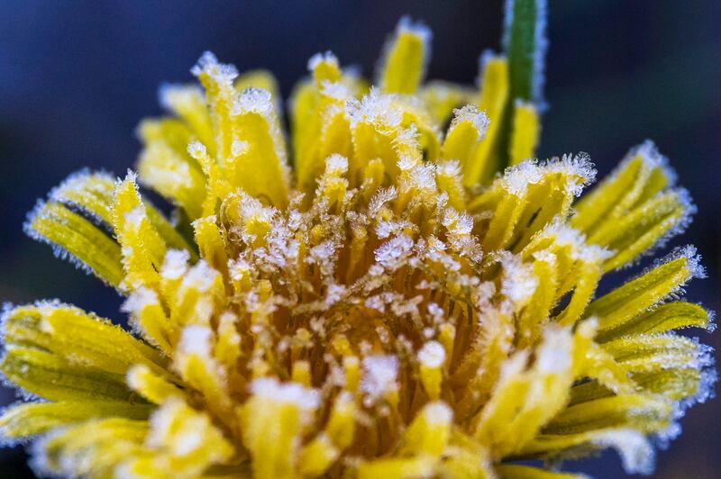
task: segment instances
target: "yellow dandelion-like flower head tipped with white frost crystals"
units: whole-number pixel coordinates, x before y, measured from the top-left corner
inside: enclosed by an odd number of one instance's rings
[[[6,309],[0,367],[28,401],[5,438],[70,476],[568,477],[518,461],[606,447],[649,472],[713,382],[709,348],[675,332],[710,328],[680,301],[703,270],[687,247],[598,283],[693,207],[650,142],[578,200],[587,155],[526,159],[537,86],[517,100],[509,35],[479,92],[424,84],[431,35],[405,20],[377,86],[316,55],[292,154],[267,73],[206,53],[205,91],[164,86],[137,176],[70,176],[26,225],[126,297],[132,332]]]

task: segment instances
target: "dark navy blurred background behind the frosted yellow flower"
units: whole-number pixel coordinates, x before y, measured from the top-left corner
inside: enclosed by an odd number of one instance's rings
[[[81,167],[122,174],[133,130],[159,115],[162,82],[187,82],[204,50],[241,70],[269,68],[287,97],[306,60],[333,50],[372,75],[403,14],[434,31],[429,77],[473,83],[482,50],[499,48],[500,0],[419,2],[0,1],[0,300],[61,298],[122,321],[114,292],[22,232],[26,212]],[[689,300],[721,310],[721,2],[551,0],[541,156],[587,151],[607,174],[651,138],[698,205],[671,246],[690,242],[709,278]],[[627,274],[626,274],[627,275]],[[623,275],[619,275],[623,276]],[[621,278],[619,277],[619,280]],[[721,346],[721,333],[700,333]],[[0,390],[0,404],[14,402]],[[718,477],[721,401],[691,409],[658,458],[656,477]],[[622,474],[615,453],[569,468]],[[0,452],[0,475],[25,477],[22,447]]]

